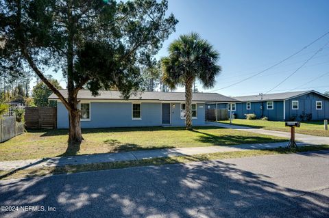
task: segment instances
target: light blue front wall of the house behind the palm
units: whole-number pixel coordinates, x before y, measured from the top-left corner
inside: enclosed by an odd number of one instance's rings
[[[180,118],[180,103],[171,103],[171,125],[184,126]],[[204,104],[197,104],[197,119],[193,125],[205,123]],[[161,103],[141,103],[142,120],[132,120],[132,103],[90,103],[90,121],[82,121],[82,128],[108,128],[130,126],[161,126]],[[69,128],[69,117],[62,103],[57,105],[58,128]]]

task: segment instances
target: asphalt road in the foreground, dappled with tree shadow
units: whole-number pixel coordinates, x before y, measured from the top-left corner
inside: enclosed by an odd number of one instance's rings
[[[1,181],[0,206],[19,206],[0,217],[329,217],[329,151]]]

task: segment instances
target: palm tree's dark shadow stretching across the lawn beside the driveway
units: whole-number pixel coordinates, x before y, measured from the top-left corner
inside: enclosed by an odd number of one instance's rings
[[[192,130],[195,133],[199,133],[200,142],[213,144],[214,146],[232,146],[234,144],[259,144],[268,142],[287,141],[287,139],[271,139],[271,137],[263,136],[244,136],[244,135],[213,135],[210,133],[204,133],[202,131]]]

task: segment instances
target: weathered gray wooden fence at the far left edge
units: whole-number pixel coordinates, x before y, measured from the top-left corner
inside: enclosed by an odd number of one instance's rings
[[[7,141],[24,132],[24,124],[16,122],[15,116],[0,118],[0,142]]]

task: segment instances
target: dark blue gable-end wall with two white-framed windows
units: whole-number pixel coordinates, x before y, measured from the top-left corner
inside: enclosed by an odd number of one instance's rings
[[[292,101],[298,100],[298,109],[292,109]],[[322,109],[317,110],[315,104],[317,101],[322,101]],[[286,100],[286,120],[290,120],[295,116],[297,120],[301,120],[300,115],[312,113],[312,120],[324,120],[329,118],[329,100],[316,93],[304,94],[297,98]]]

